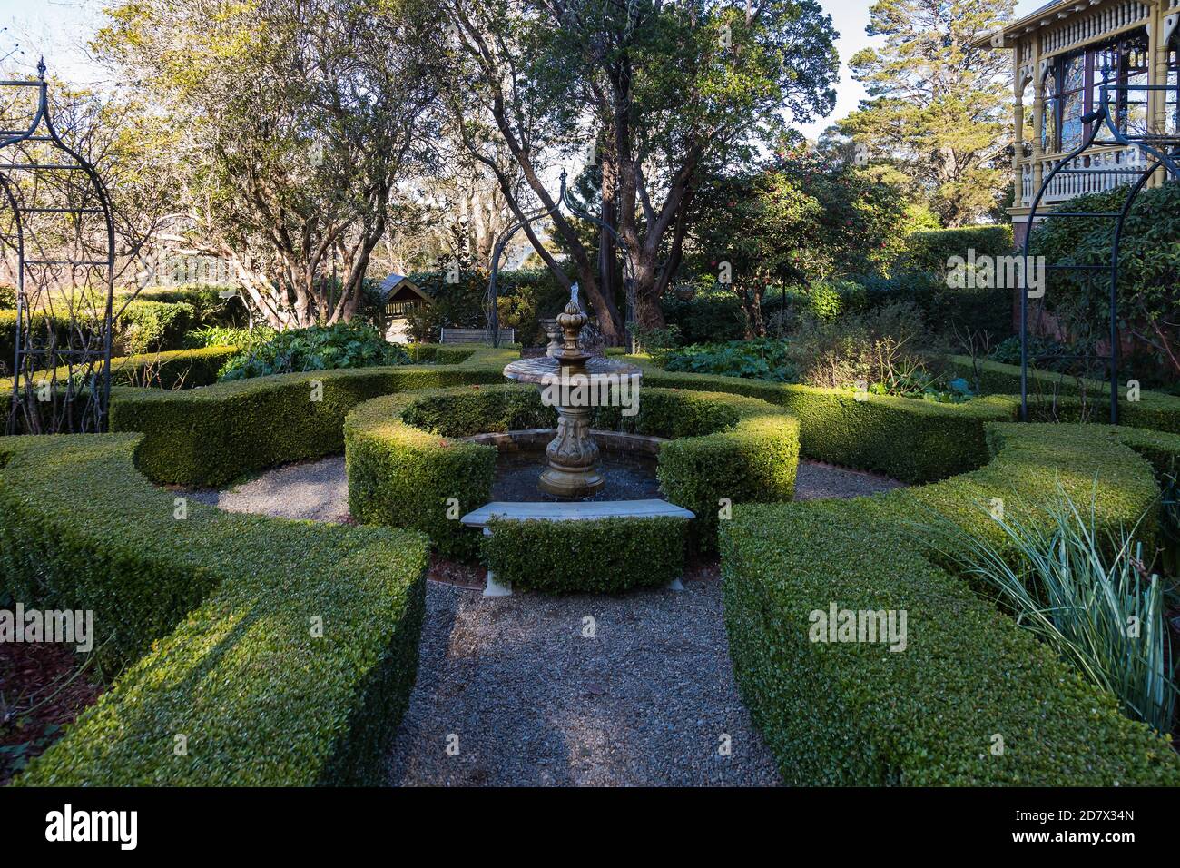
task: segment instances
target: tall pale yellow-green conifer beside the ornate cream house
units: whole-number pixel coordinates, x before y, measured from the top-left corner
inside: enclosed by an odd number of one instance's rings
[[[871,157],[907,167],[945,226],[985,216],[1008,183],[999,157],[1010,139],[1008,54],[971,43],[1014,8],[1014,0],[878,0],[867,32],[884,45],[850,60],[870,98],[843,131]]]

